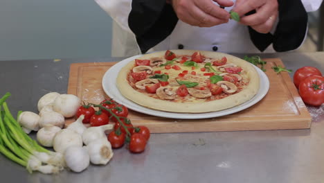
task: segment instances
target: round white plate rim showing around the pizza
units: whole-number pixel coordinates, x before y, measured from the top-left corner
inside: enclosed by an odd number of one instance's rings
[[[217,112],[205,112],[205,113],[177,113],[177,112],[163,112],[160,110],[152,110],[147,107],[143,107],[142,105],[138,105],[132,101],[129,101],[125,98],[122,94],[120,94],[117,86],[116,86],[116,78],[120,69],[122,69],[128,62],[134,60],[135,58],[141,57],[141,55],[136,55],[131,58],[127,58],[115,64],[113,67],[106,71],[105,75],[102,78],[102,88],[104,89],[105,93],[110,97],[114,98],[114,101],[125,105],[131,110],[136,112],[141,112],[144,114],[150,114],[152,116],[161,116],[165,118],[172,118],[172,119],[207,119],[213,118],[217,116],[225,116],[228,114],[233,114],[235,112],[239,112],[245,110],[248,107],[251,107],[255,103],[258,103],[268,92],[269,90],[269,79],[267,75],[261,71],[258,67],[255,69],[258,71],[260,76],[260,89],[258,93],[253,96],[249,101],[237,105],[235,107],[228,108],[226,110],[221,110]],[[254,65],[253,65],[254,66]]]

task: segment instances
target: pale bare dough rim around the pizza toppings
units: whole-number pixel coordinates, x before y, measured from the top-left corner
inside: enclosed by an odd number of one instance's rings
[[[197,50],[171,50],[176,53],[176,55],[192,55]],[[202,112],[216,112],[219,110],[225,110],[236,105],[240,105],[246,101],[249,101],[255,94],[257,94],[260,87],[260,76],[255,70],[252,64],[237,58],[233,55],[228,55],[226,53],[212,52],[212,51],[199,51],[202,55],[208,58],[222,58],[226,57],[228,62],[236,64],[242,67],[250,78],[249,85],[244,88],[241,92],[227,96],[215,101],[208,101],[204,103],[175,103],[172,101],[164,101],[150,96],[146,96],[141,92],[137,92],[132,86],[129,85],[127,80],[127,74],[134,67],[135,60],[129,62],[125,67],[123,67],[118,73],[116,80],[116,85],[119,92],[128,98],[130,101],[143,105],[144,107],[152,108],[154,110],[161,110],[167,112],[181,112],[181,113],[202,113]],[[165,51],[154,52],[150,54],[143,55],[138,59],[150,59],[154,57],[164,56]]]

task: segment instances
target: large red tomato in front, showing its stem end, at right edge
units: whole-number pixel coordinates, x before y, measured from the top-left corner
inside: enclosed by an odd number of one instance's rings
[[[299,84],[299,94],[309,105],[322,105],[324,103],[324,77],[308,76],[302,80]]]

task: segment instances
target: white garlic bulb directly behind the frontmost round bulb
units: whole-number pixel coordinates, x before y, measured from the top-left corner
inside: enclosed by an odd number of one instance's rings
[[[60,132],[57,132],[53,141],[54,150],[62,154],[66,148],[69,148],[69,146],[82,147],[82,145],[81,135],[69,129],[63,129]]]

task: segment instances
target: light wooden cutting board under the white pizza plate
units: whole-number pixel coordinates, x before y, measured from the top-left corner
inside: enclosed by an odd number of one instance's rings
[[[273,66],[284,66],[278,58],[267,61],[265,72],[270,89],[260,102],[241,112],[212,119],[168,119],[130,110],[134,125],[145,125],[153,133],[216,132],[236,130],[281,130],[310,128],[312,118],[287,72],[277,74]],[[100,103],[108,96],[101,81],[104,73],[116,62],[71,64],[68,93],[82,101]],[[70,122],[67,122],[67,125]]]

